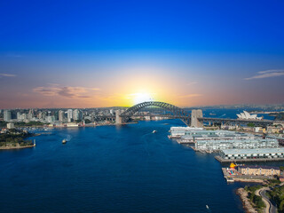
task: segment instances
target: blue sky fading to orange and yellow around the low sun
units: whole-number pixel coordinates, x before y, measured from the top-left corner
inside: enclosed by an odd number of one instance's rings
[[[283,1],[0,1],[0,108],[284,103]]]

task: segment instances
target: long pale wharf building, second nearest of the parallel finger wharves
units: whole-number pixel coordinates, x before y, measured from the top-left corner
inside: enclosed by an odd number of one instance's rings
[[[231,138],[197,140],[195,150],[217,152],[221,149],[256,149],[279,147],[277,139],[272,138]]]

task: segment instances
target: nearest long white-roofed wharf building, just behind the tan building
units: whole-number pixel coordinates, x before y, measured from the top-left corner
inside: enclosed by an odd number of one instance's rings
[[[243,160],[283,160],[284,147],[257,148],[257,149],[224,149],[219,156],[220,162]],[[224,161],[225,160],[225,161]]]

